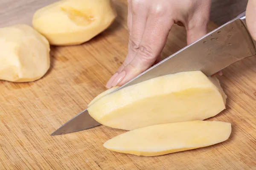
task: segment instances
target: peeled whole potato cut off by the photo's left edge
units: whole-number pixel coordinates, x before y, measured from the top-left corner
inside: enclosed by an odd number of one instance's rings
[[[0,28],[0,79],[32,82],[50,67],[48,40],[31,26],[19,24]]]

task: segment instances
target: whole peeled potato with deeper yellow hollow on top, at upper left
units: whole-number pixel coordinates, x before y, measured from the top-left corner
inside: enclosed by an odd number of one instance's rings
[[[111,0],[60,0],[38,9],[32,25],[51,45],[78,45],[107,29],[116,16]]]

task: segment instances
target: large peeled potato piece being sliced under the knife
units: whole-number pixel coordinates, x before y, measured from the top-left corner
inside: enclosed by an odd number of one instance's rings
[[[102,125],[134,130],[207,119],[225,109],[226,97],[216,77],[189,71],[122,88],[97,99],[87,110]]]

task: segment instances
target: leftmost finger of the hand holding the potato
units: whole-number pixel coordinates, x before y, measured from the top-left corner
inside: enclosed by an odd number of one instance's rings
[[[128,1],[128,30],[129,30],[129,43],[128,43],[128,53],[125,61],[117,69],[116,73],[108,80],[106,87],[111,88],[113,80],[118,74],[122,72],[126,65],[128,65],[137,53],[140,47],[140,42],[142,40],[145,25],[147,21],[147,8],[139,1],[134,3],[134,1]]]

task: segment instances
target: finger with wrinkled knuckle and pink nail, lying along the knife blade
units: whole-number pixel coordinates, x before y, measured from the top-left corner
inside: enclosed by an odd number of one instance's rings
[[[148,17],[143,39],[134,59],[113,80],[112,86],[123,85],[136,77],[156,61],[163,50],[174,21],[169,17],[150,15]]]

